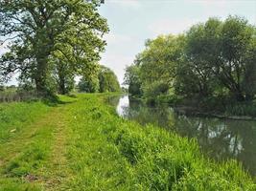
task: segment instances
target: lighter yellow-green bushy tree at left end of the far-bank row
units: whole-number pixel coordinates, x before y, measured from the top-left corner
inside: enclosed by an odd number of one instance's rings
[[[172,92],[184,39],[170,34],[146,41],[145,51],[137,55],[125,75],[131,95],[156,97]]]

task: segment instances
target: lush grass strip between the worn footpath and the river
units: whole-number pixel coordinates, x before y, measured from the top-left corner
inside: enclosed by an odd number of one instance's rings
[[[117,117],[101,96],[81,97],[68,155],[79,174],[70,182],[74,190],[256,189],[237,161],[207,159],[195,139]]]

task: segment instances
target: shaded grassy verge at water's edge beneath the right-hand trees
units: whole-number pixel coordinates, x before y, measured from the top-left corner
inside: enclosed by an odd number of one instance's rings
[[[237,117],[241,119],[255,119],[256,117],[256,99],[238,102],[229,97],[182,98],[172,95],[159,95],[145,96],[140,100],[150,105],[169,104],[173,107],[183,108],[188,115],[220,116],[226,118]]]

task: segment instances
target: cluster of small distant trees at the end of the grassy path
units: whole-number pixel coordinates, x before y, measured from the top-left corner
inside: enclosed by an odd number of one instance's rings
[[[121,91],[117,76],[105,66],[100,66],[98,74],[82,76],[78,88],[80,92],[86,93]]]

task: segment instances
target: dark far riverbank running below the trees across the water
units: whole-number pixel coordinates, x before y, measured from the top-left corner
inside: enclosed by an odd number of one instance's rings
[[[149,105],[166,105],[175,109],[175,112],[196,117],[217,117],[234,120],[256,120],[256,99],[249,102],[227,100],[182,99],[174,96],[159,96],[143,98],[130,96]]]

